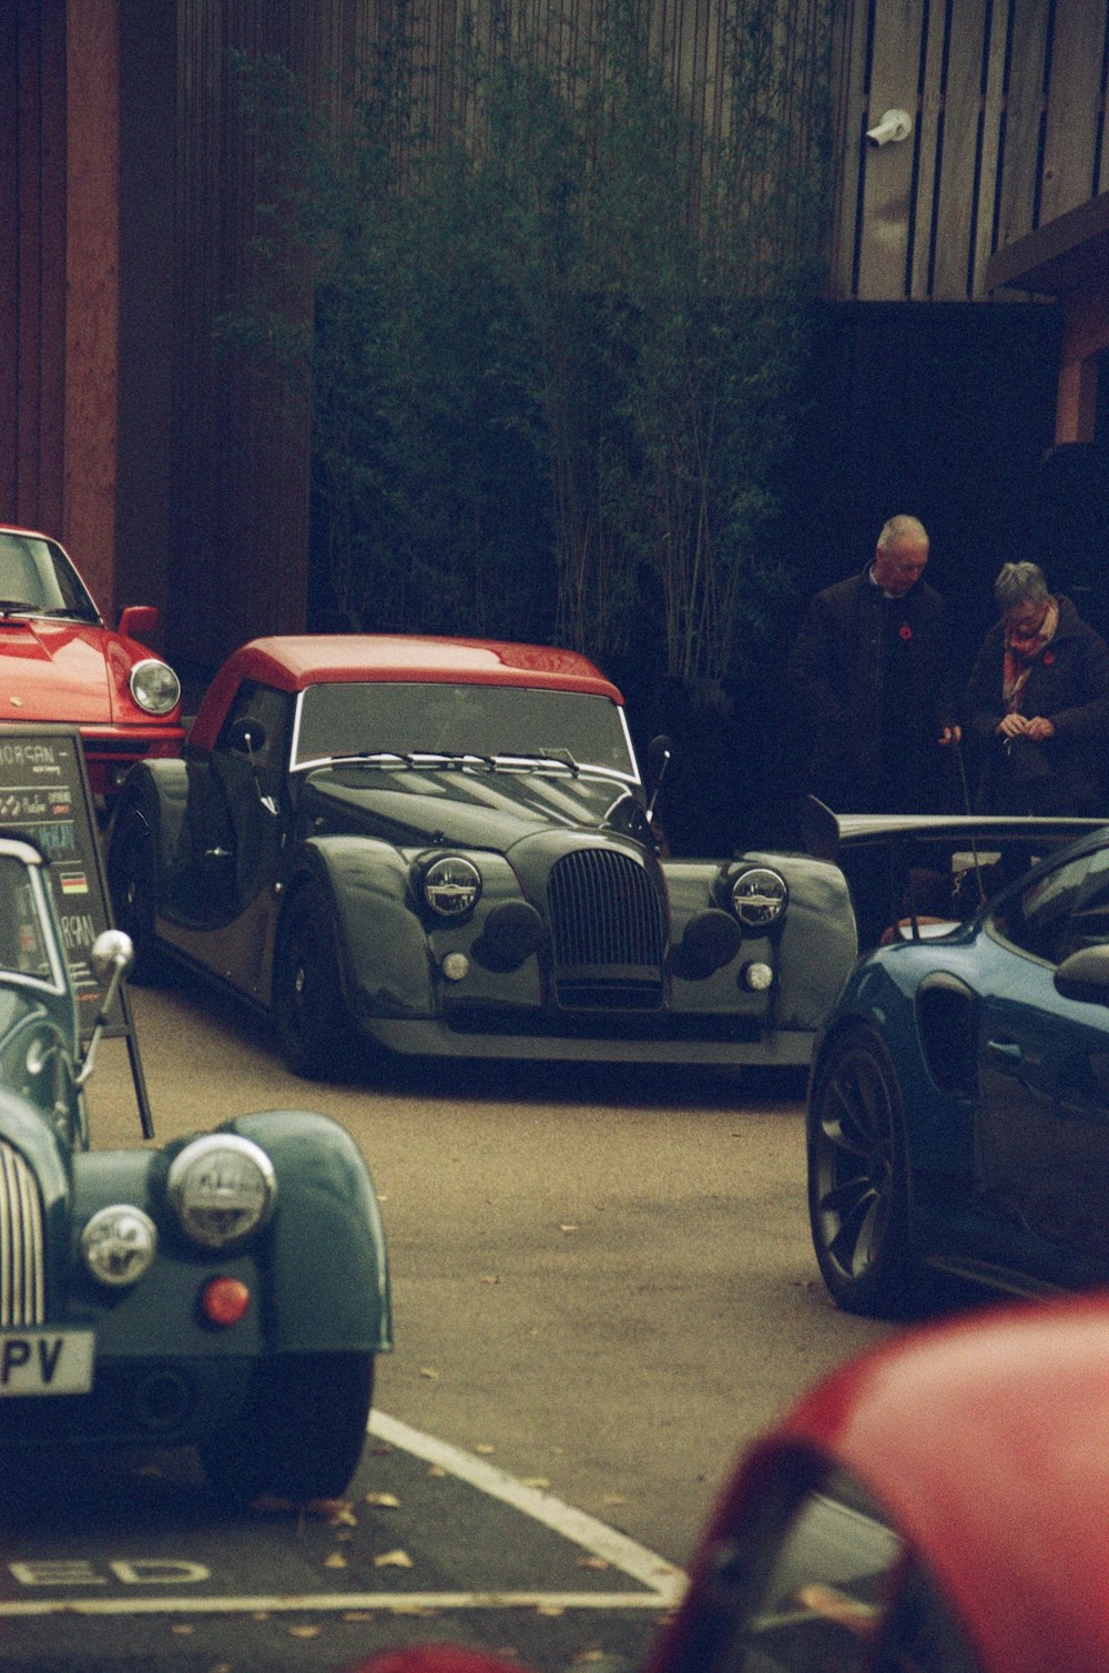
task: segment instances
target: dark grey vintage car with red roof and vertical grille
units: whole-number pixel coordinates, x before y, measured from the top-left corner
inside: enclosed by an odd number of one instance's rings
[[[234,989],[308,1076],[356,1041],[805,1064],[856,950],[823,860],[667,858],[619,691],[544,646],[241,647],[127,780],[109,885],[141,970]]]

